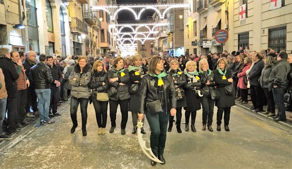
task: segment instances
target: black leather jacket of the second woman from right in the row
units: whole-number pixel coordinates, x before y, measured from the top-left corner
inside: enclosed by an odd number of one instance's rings
[[[208,75],[207,71],[206,72],[199,72],[199,77],[201,79],[201,83],[202,83],[202,89],[203,89],[203,93],[204,95],[208,95],[210,94],[210,90],[214,90],[216,84],[214,82],[214,74],[213,71],[211,71],[211,74]],[[209,80],[210,84],[206,85],[207,80]]]

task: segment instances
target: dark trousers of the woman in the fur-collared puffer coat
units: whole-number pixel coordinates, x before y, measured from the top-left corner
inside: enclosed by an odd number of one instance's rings
[[[80,103],[80,111],[81,111],[81,120],[82,120],[82,129],[86,128],[87,123],[87,105],[89,99],[86,98],[74,98],[71,97],[71,105],[70,105],[70,116],[73,123],[73,126],[77,127],[77,109]]]

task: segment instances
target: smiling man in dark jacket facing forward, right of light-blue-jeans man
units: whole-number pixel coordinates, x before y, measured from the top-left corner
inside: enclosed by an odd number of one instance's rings
[[[56,116],[62,116],[57,112],[58,109],[58,101],[60,94],[60,85],[63,80],[62,72],[58,65],[53,63],[53,56],[47,56],[47,66],[51,69],[51,73],[53,76],[53,83],[51,83],[51,100],[50,100],[50,110],[49,110],[49,118],[54,119]],[[52,110],[52,112],[51,112]]]

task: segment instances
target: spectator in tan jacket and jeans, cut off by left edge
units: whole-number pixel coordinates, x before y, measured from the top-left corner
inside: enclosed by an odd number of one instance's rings
[[[7,91],[2,69],[0,68],[0,139],[10,140],[12,137],[3,132],[2,123],[6,113]]]

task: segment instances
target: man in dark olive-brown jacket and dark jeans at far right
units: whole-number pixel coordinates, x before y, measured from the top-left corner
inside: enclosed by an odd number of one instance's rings
[[[287,62],[286,52],[280,52],[277,56],[277,63],[272,69],[269,78],[269,90],[273,90],[275,104],[278,108],[278,114],[273,118],[275,121],[286,121],[286,112],[284,105],[284,94],[289,85],[287,75],[290,72],[290,64]]]

